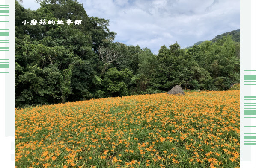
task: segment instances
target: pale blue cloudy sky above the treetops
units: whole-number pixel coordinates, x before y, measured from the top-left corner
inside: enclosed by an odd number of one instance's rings
[[[115,41],[158,53],[160,46],[182,48],[240,29],[240,0],[77,0],[87,14],[110,20]],[[35,10],[35,0],[23,0]]]

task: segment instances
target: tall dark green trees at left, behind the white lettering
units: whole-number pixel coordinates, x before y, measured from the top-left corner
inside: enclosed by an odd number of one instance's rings
[[[108,20],[89,18],[75,0],[40,2],[41,8],[31,11],[16,1],[17,106],[92,98],[94,87],[101,83],[97,45],[106,37],[114,38],[106,29]],[[82,25],[21,24],[35,18],[79,19]],[[93,35],[95,31],[101,34]]]

